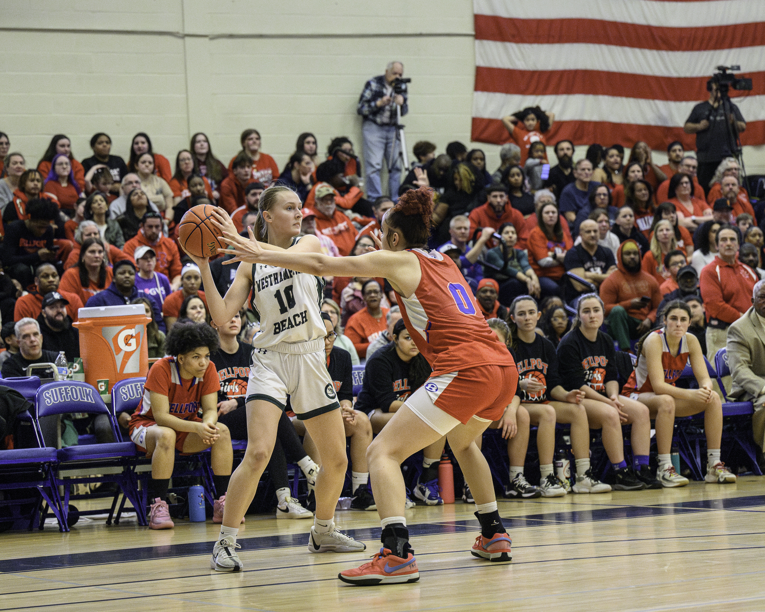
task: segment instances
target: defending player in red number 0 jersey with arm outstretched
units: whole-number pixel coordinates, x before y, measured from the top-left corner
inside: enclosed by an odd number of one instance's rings
[[[338,578],[351,584],[419,579],[403,516],[406,492],[399,466],[443,435],[448,435],[477,504],[481,533],[472,554],[490,561],[511,558],[489,465],[474,440],[512,402],[518,371],[454,262],[424,249],[432,207],[431,189],[407,191],[383,217],[382,240],[376,240],[381,250],[356,257],[277,252],[257,242],[252,233],[250,240],[223,233],[233,246],[233,262],[260,262],[318,276],[387,278],[399,295],[409,333],[433,369],[428,382],[406,400],[367,451],[369,476],[379,495],[375,499],[382,519],[382,549],[371,562],[340,572]]]

